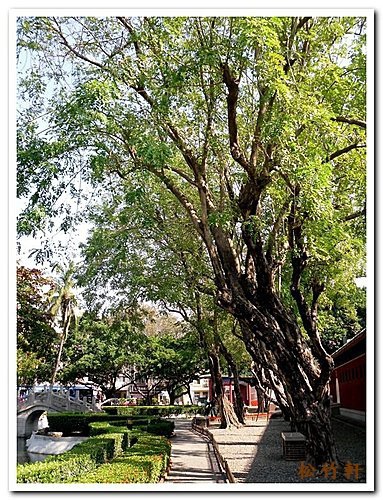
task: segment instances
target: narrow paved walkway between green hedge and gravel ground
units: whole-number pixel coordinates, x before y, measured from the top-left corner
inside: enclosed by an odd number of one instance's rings
[[[167,483],[225,483],[209,441],[191,428],[191,420],[174,419],[171,468]]]

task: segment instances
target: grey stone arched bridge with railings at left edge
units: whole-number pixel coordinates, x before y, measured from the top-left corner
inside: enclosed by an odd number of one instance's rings
[[[29,437],[33,431],[37,431],[39,419],[46,411],[90,412],[100,411],[100,408],[94,400],[88,403],[86,398],[81,400],[69,396],[69,391],[31,393],[27,399],[17,404],[17,436]]]

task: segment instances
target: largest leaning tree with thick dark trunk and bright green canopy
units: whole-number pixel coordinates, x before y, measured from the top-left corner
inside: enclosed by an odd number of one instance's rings
[[[42,227],[77,174],[109,192],[135,178],[153,196],[172,193],[203,245],[217,304],[236,318],[315,464],[336,460],[318,305],[326,288],[363,272],[365,25],[19,23],[19,47],[34,54],[20,84],[33,98],[19,121],[19,192],[30,196],[20,231]],[[48,131],[31,120],[39,109],[50,113]]]

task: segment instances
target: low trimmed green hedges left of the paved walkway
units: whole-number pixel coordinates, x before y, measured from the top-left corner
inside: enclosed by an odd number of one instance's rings
[[[147,423],[148,419],[133,421]],[[173,431],[174,422],[157,419],[156,423],[147,426],[138,425],[134,431],[115,423],[113,420],[111,423],[89,422],[92,437],[44,462],[18,465],[17,482],[158,482],[168,467],[171,444],[164,436],[155,434]],[[146,432],[147,428],[151,428],[152,433]]]

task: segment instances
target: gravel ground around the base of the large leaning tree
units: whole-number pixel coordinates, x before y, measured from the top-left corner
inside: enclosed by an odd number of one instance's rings
[[[230,430],[219,429],[218,424],[213,424],[209,430],[239,483],[366,482],[365,429],[336,420],[333,428],[339,458],[351,466],[348,469],[344,466],[329,467],[321,477],[316,477],[315,471],[309,467],[303,468],[302,462],[287,461],[282,457],[281,432],[291,431],[288,422],[282,418],[268,422],[259,419],[240,429]],[[347,477],[344,477],[344,472]]]

